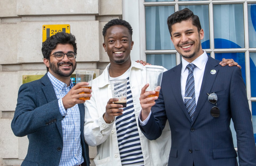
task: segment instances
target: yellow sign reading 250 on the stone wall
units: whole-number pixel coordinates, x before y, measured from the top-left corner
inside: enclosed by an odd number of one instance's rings
[[[69,24],[55,24],[55,25],[43,25],[43,42],[52,35],[58,32],[70,33]]]

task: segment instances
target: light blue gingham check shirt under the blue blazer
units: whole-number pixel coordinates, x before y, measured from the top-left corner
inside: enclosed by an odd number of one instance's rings
[[[62,98],[74,86],[73,82],[70,80],[70,86],[67,86],[67,84],[59,81],[50,72],[48,72],[47,75],[53,84],[55,94],[59,99],[59,111],[62,116],[65,116],[61,122],[63,132],[63,150],[59,166],[79,165],[84,161],[82,157],[82,146],[80,139],[81,131],[79,108],[76,104],[74,107],[65,109],[62,103]]]

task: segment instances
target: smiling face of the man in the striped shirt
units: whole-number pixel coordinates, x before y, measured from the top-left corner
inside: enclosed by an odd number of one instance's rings
[[[110,63],[131,63],[130,52],[133,49],[133,41],[125,26],[115,25],[108,28],[103,47],[109,56]]]

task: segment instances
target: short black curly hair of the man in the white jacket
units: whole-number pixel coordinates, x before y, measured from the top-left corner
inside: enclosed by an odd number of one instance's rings
[[[113,19],[113,20],[110,20],[108,23],[106,23],[106,25],[104,26],[104,28],[102,30],[102,35],[104,37],[104,40],[105,40],[105,37],[106,37],[107,29],[112,27],[112,26],[115,26],[115,25],[122,25],[122,26],[125,26],[126,28],[128,28],[129,34],[132,37],[132,35],[133,35],[133,28],[131,27],[129,22],[127,22],[125,20],[122,20],[122,19]]]

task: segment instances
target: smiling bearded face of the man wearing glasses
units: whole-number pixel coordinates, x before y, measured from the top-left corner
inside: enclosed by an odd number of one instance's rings
[[[57,44],[57,47],[51,51],[50,55],[55,52],[74,52],[74,47],[71,44]],[[43,62],[49,67],[49,72],[61,81],[63,78],[69,78],[77,66],[75,59],[70,60],[66,55],[62,60],[57,60],[54,55],[52,55],[49,59],[44,59]]]

